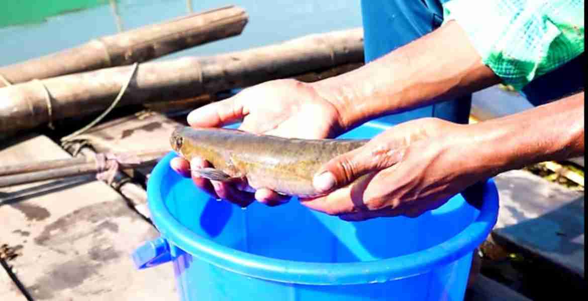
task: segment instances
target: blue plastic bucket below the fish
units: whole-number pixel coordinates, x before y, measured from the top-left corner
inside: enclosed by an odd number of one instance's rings
[[[387,127],[370,122],[342,137],[370,138]],[[181,300],[462,300],[473,250],[497,218],[492,180],[482,200],[459,194],[418,218],[346,222],[295,198],[242,209],[176,174],[173,157],[148,182],[161,237],[133,260],[139,269],[171,262]]]

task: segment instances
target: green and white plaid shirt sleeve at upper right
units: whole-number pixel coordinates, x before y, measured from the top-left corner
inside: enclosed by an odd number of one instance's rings
[[[584,0],[451,0],[443,11],[516,90],[584,52]]]

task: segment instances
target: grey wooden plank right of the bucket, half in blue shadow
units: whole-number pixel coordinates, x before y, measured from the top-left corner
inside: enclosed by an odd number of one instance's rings
[[[584,194],[522,170],[495,178],[493,234],[584,277]]]

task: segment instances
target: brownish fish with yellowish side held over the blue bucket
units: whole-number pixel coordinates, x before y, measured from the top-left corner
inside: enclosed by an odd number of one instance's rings
[[[319,169],[369,141],[285,138],[233,128],[188,126],[175,128],[169,139],[173,151],[185,160],[200,157],[211,163],[212,167],[192,170],[200,177],[221,182],[246,180],[248,191],[267,188],[300,198],[325,195],[312,185]]]

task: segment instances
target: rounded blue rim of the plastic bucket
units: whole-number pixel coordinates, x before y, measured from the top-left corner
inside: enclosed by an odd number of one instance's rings
[[[373,126],[381,125],[376,123]],[[170,171],[174,172],[169,161],[176,156],[173,151],[165,155],[149,177],[148,207],[153,224],[170,245],[218,268],[252,278],[302,285],[358,285],[409,278],[473,252],[489,235],[498,216],[498,191],[490,178],[485,182],[482,207],[475,221],[458,234],[430,248],[393,258],[362,262],[326,263],[270,258],[221,245],[192,232],[173,217],[161,197],[161,178]]]

